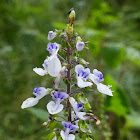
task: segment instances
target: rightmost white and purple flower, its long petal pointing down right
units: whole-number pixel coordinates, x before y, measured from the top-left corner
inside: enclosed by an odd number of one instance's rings
[[[113,94],[112,94],[113,91],[111,91],[111,89],[110,89],[110,87],[112,87],[112,86],[110,86],[110,85],[106,86],[106,85],[100,83],[100,82],[104,81],[103,74],[100,71],[98,71],[97,69],[94,69],[93,74],[90,73],[89,79],[93,83],[96,84],[99,92],[109,95],[109,96],[113,96]]]

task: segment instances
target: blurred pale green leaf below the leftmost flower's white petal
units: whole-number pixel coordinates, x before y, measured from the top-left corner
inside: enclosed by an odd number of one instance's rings
[[[39,108],[29,108],[28,111],[30,111],[33,115],[35,115],[38,119],[46,121],[48,120],[48,112],[47,110],[39,109]]]

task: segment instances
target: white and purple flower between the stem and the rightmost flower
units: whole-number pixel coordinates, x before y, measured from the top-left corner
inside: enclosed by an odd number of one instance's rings
[[[82,65],[76,65],[75,72],[77,73],[77,85],[80,88],[85,88],[88,86],[92,86],[93,84],[91,82],[86,82],[88,79],[88,76],[90,74],[90,69],[84,67]]]

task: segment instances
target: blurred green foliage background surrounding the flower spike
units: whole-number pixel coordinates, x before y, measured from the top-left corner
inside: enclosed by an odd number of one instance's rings
[[[94,140],[140,139],[140,1],[139,0],[1,0],[0,1],[0,140],[45,140],[45,97],[22,110],[33,88],[52,87],[41,67],[49,30],[66,27],[76,11],[75,29],[90,50],[80,53],[91,69],[101,70],[114,96],[87,94],[101,126],[91,123]],[[57,41],[57,40],[55,40]],[[58,42],[60,43],[60,42]],[[47,80],[46,80],[47,79]]]

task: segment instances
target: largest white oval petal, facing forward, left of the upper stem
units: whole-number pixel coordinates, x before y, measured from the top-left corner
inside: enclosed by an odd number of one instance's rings
[[[61,62],[57,56],[54,56],[53,59],[48,63],[48,73],[52,77],[57,77],[61,70]]]

